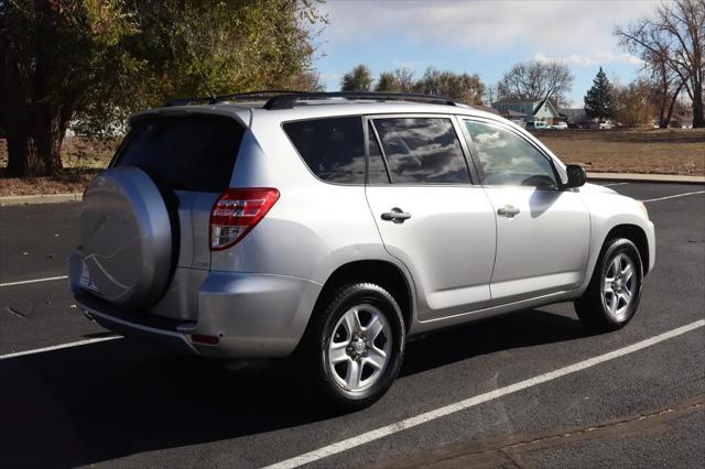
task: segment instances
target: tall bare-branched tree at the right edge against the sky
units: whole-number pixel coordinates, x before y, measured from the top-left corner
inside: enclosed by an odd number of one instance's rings
[[[660,126],[668,126],[681,89],[685,88],[693,106],[693,127],[705,127],[705,0],[664,2],[652,18],[618,26],[615,35],[620,45],[638,54],[655,73],[664,95],[659,106]]]

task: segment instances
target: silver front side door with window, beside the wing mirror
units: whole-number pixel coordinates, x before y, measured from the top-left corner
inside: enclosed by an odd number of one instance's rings
[[[463,122],[497,216],[492,304],[575,288],[585,274],[590,231],[579,194],[560,188],[550,156],[516,129]]]

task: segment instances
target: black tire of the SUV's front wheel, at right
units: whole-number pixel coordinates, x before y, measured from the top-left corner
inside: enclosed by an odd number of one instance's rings
[[[618,257],[627,257],[632,262],[634,284],[632,285],[633,293],[631,294],[628,307],[627,305],[622,306],[621,313],[616,315],[610,314],[606,299],[607,296],[611,298],[615,293],[606,296],[603,288],[608,274],[611,279],[611,272],[614,272],[614,270],[610,269],[614,269],[614,266],[610,268],[610,265]],[[623,260],[623,258],[621,259]],[[593,332],[608,332],[620,329],[625,327],[637,313],[639,301],[641,299],[642,281],[643,266],[641,263],[641,255],[639,254],[639,250],[634,243],[626,238],[610,239],[605,242],[605,246],[603,247],[587,290],[583,296],[574,302],[575,312],[577,313],[581,321],[583,321],[583,324]],[[621,290],[621,282],[619,283],[619,286]],[[618,304],[621,304],[620,302],[623,302],[623,299],[618,298],[617,302]]]

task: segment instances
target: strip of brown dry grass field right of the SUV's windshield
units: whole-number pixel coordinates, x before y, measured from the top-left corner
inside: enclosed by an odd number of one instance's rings
[[[564,163],[592,172],[705,175],[705,129],[533,132]]]

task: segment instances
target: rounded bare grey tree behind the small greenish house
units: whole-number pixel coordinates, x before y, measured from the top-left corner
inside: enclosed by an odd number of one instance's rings
[[[497,84],[498,94],[510,99],[565,101],[573,87],[573,74],[560,62],[530,61],[517,64]]]

